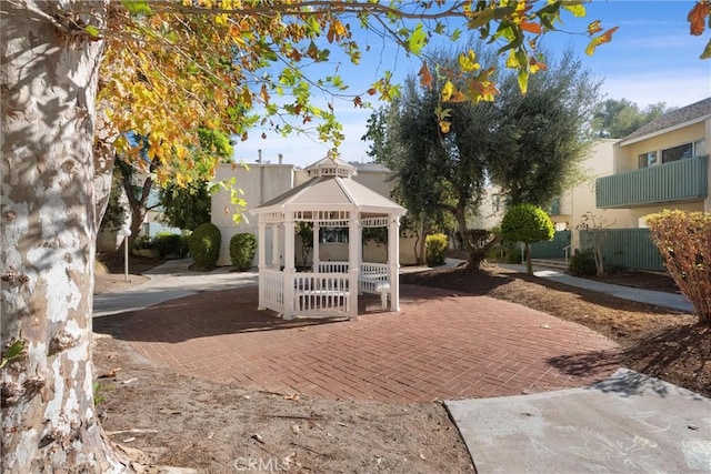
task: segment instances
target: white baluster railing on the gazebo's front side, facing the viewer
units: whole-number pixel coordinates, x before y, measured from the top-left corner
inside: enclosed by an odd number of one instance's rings
[[[350,314],[349,280],[347,272],[294,274],[294,313],[299,315]]]

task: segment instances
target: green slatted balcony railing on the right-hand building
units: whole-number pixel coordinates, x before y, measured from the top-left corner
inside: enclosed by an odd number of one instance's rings
[[[595,203],[598,208],[632,208],[705,199],[708,170],[705,155],[598,178]]]

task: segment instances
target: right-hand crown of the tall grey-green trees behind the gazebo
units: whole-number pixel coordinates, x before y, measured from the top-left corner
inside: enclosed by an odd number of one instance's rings
[[[525,95],[515,78],[501,81],[487,130],[487,170],[508,204],[547,206],[575,182],[600,84],[571,50],[532,75]]]

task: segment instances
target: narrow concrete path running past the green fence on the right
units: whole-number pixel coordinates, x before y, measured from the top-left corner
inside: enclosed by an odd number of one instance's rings
[[[499,266],[525,273],[525,265],[500,263]],[[592,280],[571,276],[560,271],[544,266],[534,265],[533,274],[541,279],[551,280],[558,283],[567,284],[569,286],[577,286],[599,293],[610,294],[623,300],[639,301],[641,303],[653,304],[657,306],[671,307],[672,310],[682,311],[684,313],[693,312],[691,302],[681,293],[665,293],[661,291],[640,290],[630,286],[595,282]]]

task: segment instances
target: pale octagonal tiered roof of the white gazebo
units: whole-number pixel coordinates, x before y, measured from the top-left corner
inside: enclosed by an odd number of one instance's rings
[[[253,215],[284,211],[352,211],[403,215],[400,204],[353,181],[356,167],[326,158],[307,168],[313,177],[306,183],[264,202],[250,212]]]

